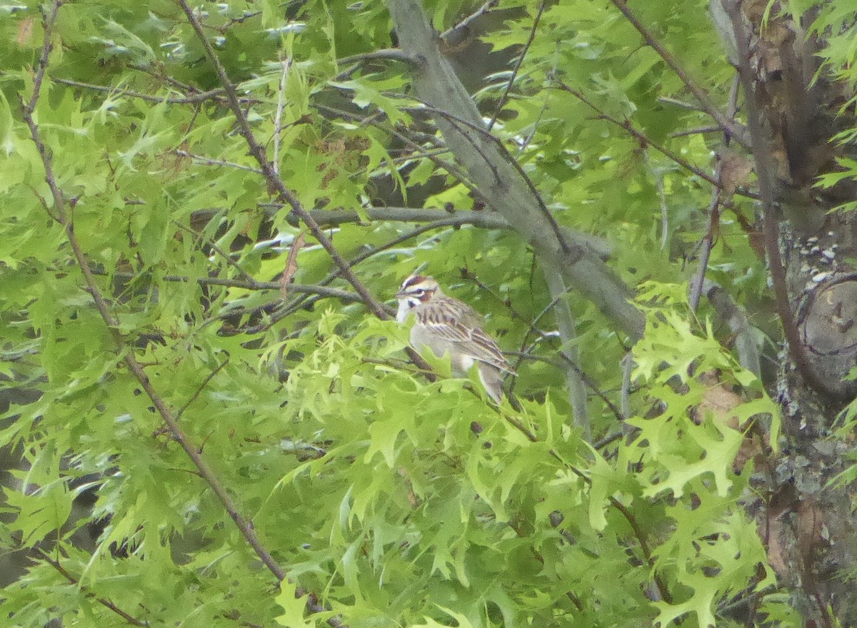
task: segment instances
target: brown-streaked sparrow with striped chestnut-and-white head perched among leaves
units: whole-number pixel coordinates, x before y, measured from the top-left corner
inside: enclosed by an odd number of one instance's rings
[[[500,404],[503,398],[503,374],[515,375],[515,369],[494,338],[482,330],[482,316],[467,303],[446,296],[433,277],[412,274],[396,293],[399,309],[396,320],[404,323],[413,314],[411,346],[424,346],[440,357],[449,353],[452,374],[466,377],[474,364],[488,397]]]

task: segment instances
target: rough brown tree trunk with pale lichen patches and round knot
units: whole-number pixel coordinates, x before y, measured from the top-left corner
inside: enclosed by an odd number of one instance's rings
[[[855,253],[854,218],[830,212],[857,190],[847,181],[823,194],[812,188],[819,175],[837,169],[841,148],[830,143],[831,135],[854,120],[836,117],[847,86],[824,71],[817,75],[821,42],[807,37],[805,24],[766,0],[740,3],[743,30],[750,33],[749,57],[741,58],[740,33],[723,19],[729,7],[728,0],[711,3],[730,58],[752,69],[753,91],[745,97],[762,118],[769,152],[753,158],[773,164],[791,314],[806,363],[825,389],[808,385],[791,361],[794,351],[783,346],[776,394],[786,440],[782,457],[771,464],[770,498],[759,505],[760,529],[767,530],[771,566],[806,619],[830,626],[831,609],[841,625],[854,625],[857,600],[848,582],[857,567],[853,495],[830,485],[852,463],[848,447],[826,437],[857,394],[855,383],[843,380],[857,364],[857,275],[847,261]],[[771,17],[763,28],[766,9]]]

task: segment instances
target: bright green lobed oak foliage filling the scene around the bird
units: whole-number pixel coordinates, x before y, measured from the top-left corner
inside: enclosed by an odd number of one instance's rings
[[[506,4],[508,19],[484,38],[496,51],[530,37],[531,11]],[[475,9],[427,5],[440,31]],[[706,5],[637,9],[725,103],[733,70]],[[429,150],[440,139],[414,109],[404,64],[340,75],[348,64],[338,60],[394,44],[382,3],[201,10],[272,157],[281,99],[277,164],[303,206],[363,216],[397,197],[474,206],[454,173],[396,139],[418,129],[434,138],[418,142]],[[103,601],[147,625],[731,625],[729,605],[748,595],[759,624],[799,625],[741,506],[752,490],[751,468],[731,470],[742,434],[690,418],[705,387],[687,367],[716,368],[752,399],[735,415],[745,427],[767,417],[776,444],[776,404],[724,348],[728,332],[683,296],[710,188],[561,88],[710,170],[710,136],[674,137],[704,126],[704,114],[659,100],[683,85],[618,11],[589,0],[545,9],[494,127],[560,224],[606,238],[620,276],[644,285],[629,421],[638,432],[600,447],[571,427],[555,335],[530,330],[551,298],[509,231],[438,227],[389,248],[411,224],[367,219],[329,233],[346,260],[367,254],[355,269],[381,300],[427,265],[488,314],[505,349],[535,342],[530,354],[543,359],[518,367],[520,413],[498,413],[442,360],[431,360],[441,377],[428,383],[404,361],[407,330],[357,299],[284,297],[255,283],[277,281],[300,229],[273,206],[222,93],[196,98],[219,81],[181,8],[160,0],[64,5],[34,113],[118,320],[117,346],[51,219],[21,117],[43,45],[39,4],[0,4],[0,14],[0,434],[24,461],[10,470],[0,538],[29,557],[0,594],[0,625],[125,623]],[[831,63],[842,63],[836,41]],[[508,80],[501,72],[476,93],[486,117]],[[736,196],[734,211],[752,217],[751,202]],[[336,270],[311,237],[297,263],[301,286]],[[764,266],[732,214],[710,271],[746,306],[764,300]],[[579,366],[618,404],[626,338],[573,292],[569,302]],[[550,319],[537,325],[549,331]],[[765,314],[755,322],[770,326]],[[163,429],[124,351],[293,583],[261,565]],[[662,414],[643,418],[658,401]],[[589,407],[596,440],[620,432],[602,397]],[[85,495],[94,501],[81,512]],[[307,613],[294,583],[330,611]]]

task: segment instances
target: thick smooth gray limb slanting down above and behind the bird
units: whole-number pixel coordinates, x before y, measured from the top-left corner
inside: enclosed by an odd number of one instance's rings
[[[531,183],[502,144],[484,130],[470,94],[440,55],[438,38],[419,0],[389,0],[388,5],[399,45],[418,60],[411,66],[417,97],[428,103],[446,145],[470,181],[532,246],[542,266],[560,272],[623,332],[632,338],[642,336],[644,317],[629,302],[632,291],[590,248],[566,241]]]

